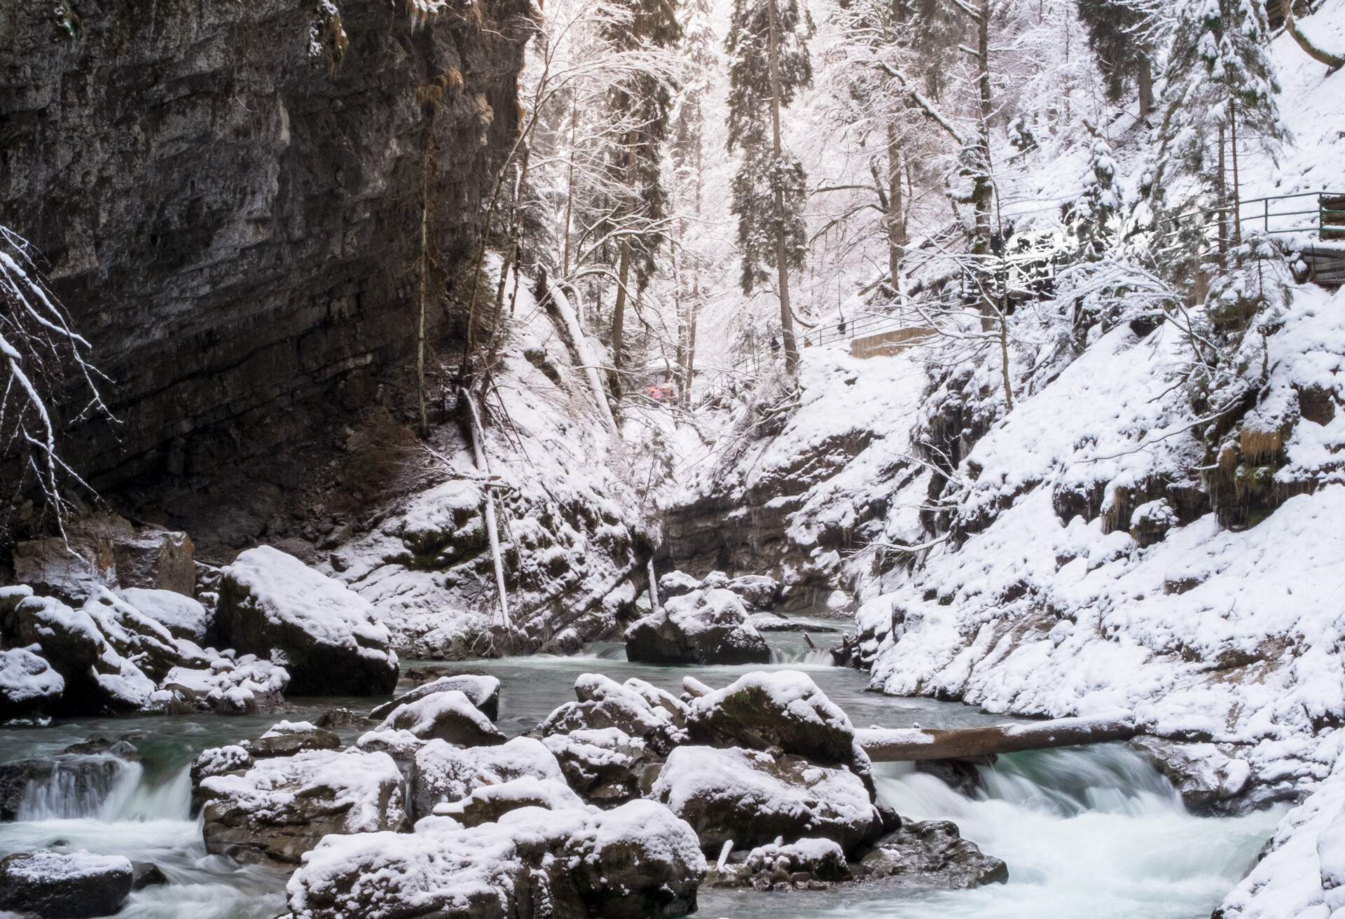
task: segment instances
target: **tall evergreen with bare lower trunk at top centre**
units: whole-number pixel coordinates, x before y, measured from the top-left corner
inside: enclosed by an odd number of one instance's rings
[[[738,218],[742,291],[776,272],[785,370],[799,350],[790,305],[790,269],[803,266],[807,237],[803,205],[807,176],[780,140],[781,109],[812,82],[808,39],[812,22],[799,0],[734,0],[729,52],[729,152],[742,151],[733,179]]]

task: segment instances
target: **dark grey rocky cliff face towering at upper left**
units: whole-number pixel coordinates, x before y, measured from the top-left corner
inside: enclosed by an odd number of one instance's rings
[[[527,0],[338,5],[0,8],[0,223],[114,381],[121,424],[67,448],[94,484],[195,488],[369,398],[414,340],[430,137],[449,273],[468,248],[516,135]]]

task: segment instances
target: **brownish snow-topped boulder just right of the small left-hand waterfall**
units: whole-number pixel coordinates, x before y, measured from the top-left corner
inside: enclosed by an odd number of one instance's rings
[[[307,751],[200,783],[206,850],[297,864],[331,833],[401,829],[402,774],[386,753]]]

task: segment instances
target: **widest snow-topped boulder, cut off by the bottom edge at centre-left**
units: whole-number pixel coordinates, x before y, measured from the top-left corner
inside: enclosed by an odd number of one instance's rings
[[[705,858],[666,807],[522,807],[464,828],[426,818],[410,834],[330,837],[289,880],[295,919],[351,916],[683,916]],[[545,906],[543,906],[545,904]]]

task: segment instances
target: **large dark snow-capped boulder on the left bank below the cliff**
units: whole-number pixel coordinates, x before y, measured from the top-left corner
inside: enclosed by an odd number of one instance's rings
[[[223,569],[215,627],[239,651],[282,651],[297,696],[385,696],[397,686],[391,635],[374,607],[270,546]]]

